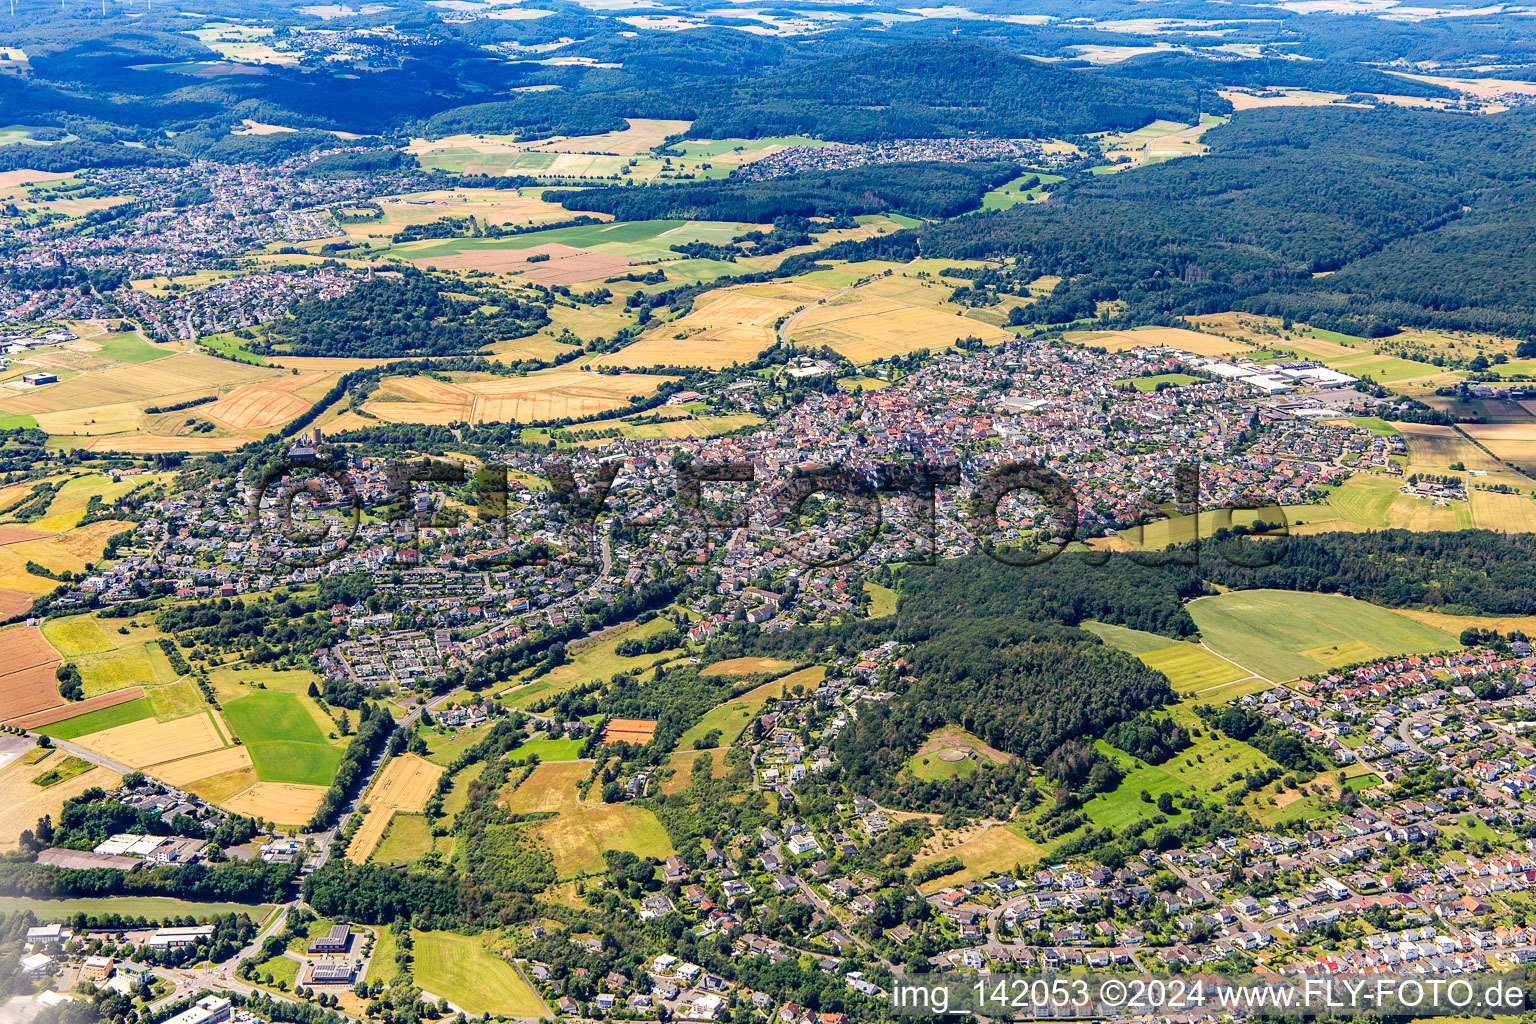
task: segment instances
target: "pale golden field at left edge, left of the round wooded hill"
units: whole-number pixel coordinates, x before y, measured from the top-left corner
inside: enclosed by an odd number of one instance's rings
[[[8,388],[0,388],[0,411],[35,416],[37,413],[60,413],[117,404],[164,407],[217,395],[224,387],[272,376],[276,373],[270,368],[180,353],[152,362],[81,373],[58,384],[46,384],[15,395],[6,393]]]

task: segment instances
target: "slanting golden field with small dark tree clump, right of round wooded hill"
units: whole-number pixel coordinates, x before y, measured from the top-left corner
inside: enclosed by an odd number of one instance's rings
[[[631,345],[593,361],[617,367],[705,367],[723,370],[733,362],[751,362],[774,344],[780,318],[831,292],[802,286],[806,299],[754,295],[745,289],[725,289],[700,296],[693,310],[670,324],[654,327]]]

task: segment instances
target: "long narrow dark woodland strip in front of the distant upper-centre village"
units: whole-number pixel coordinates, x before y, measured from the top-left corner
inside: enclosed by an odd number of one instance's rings
[[[1017,178],[1008,161],[892,163],[819,170],[766,181],[697,181],[637,189],[548,192],[567,210],[613,213],[622,221],[684,218],[765,224],[780,216],[837,216],[895,210],[914,216],[954,216]]]

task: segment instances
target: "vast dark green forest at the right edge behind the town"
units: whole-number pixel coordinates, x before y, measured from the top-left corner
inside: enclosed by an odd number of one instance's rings
[[[923,250],[1017,253],[1040,273],[1074,275],[1029,307],[1040,322],[1118,299],[1144,322],[1246,309],[1352,333],[1381,333],[1382,318],[1536,330],[1536,264],[1513,230],[1536,209],[1530,114],[1247,111],[1206,138],[1201,160],[931,226]],[[1501,246],[1458,263],[1501,229]]]

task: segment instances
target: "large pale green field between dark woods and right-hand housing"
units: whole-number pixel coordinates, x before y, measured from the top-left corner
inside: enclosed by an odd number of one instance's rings
[[[1206,646],[1275,682],[1459,646],[1450,633],[1336,594],[1232,591],[1189,603]]]

